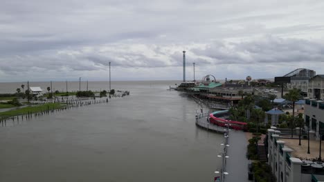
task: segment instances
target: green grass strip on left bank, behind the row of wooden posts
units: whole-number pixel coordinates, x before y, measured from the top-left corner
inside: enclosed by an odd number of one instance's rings
[[[64,105],[60,103],[45,103],[42,105],[37,105],[37,106],[28,106],[26,108],[19,108],[17,110],[10,110],[6,112],[0,112],[0,117],[7,118],[7,117],[14,117],[22,114],[28,114],[28,112],[41,112],[41,111],[46,111],[48,108],[50,110],[53,109],[60,109],[63,108]]]

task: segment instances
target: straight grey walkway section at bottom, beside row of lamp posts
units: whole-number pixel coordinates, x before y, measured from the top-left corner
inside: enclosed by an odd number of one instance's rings
[[[248,179],[248,164],[249,160],[246,158],[247,141],[244,132],[231,130],[228,138],[227,155],[229,158],[226,161],[226,171],[228,175],[225,176],[226,182],[249,182]]]

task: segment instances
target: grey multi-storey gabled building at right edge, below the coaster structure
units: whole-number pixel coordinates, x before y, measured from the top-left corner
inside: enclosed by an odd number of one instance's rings
[[[309,79],[307,97],[324,100],[324,74],[318,74]]]

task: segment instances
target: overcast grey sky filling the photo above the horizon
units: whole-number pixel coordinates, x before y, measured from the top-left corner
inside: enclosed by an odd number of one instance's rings
[[[324,1],[0,0],[0,81],[324,74]]]

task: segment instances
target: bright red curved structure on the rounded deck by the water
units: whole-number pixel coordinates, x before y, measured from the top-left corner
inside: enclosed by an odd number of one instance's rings
[[[227,125],[229,124],[229,128],[232,128],[234,130],[244,130],[244,131],[247,130],[247,123],[229,120],[228,110],[222,110],[222,111],[211,113],[209,115],[209,121],[210,123],[222,127],[227,127]]]

